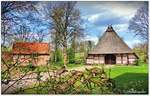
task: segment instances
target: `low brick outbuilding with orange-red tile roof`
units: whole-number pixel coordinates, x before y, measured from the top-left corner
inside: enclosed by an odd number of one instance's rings
[[[16,42],[12,48],[13,61],[20,65],[46,65],[50,59],[48,43]]]

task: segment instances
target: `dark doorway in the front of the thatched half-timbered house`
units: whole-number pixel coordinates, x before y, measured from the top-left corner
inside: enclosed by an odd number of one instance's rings
[[[116,56],[113,54],[105,55],[105,64],[116,64]]]

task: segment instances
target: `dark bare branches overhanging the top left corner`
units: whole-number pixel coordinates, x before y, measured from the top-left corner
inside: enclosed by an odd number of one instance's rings
[[[1,2],[1,20],[2,21],[13,21],[15,22],[16,19],[19,19],[18,15],[14,12],[22,12],[25,10],[36,10],[34,4],[37,2],[31,1],[2,1]]]

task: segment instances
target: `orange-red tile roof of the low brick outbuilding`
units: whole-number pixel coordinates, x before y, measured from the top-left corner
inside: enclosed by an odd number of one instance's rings
[[[48,43],[16,42],[12,51],[13,54],[49,54],[50,46]]]

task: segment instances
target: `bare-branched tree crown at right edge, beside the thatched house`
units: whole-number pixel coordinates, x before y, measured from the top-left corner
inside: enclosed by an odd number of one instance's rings
[[[134,17],[129,22],[129,30],[136,36],[140,36],[144,41],[148,41],[148,3],[139,8]]]

